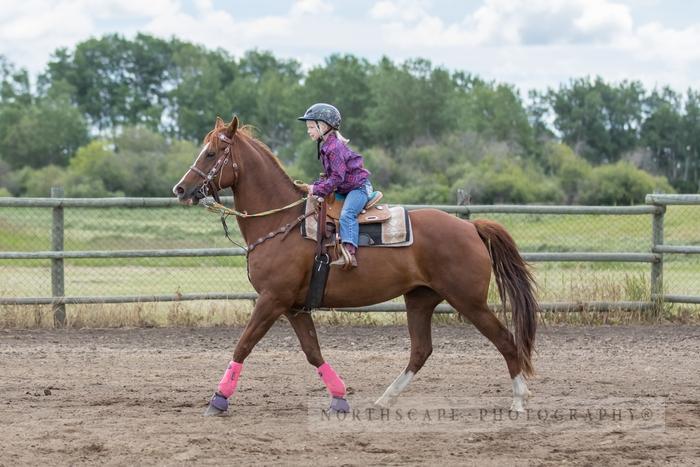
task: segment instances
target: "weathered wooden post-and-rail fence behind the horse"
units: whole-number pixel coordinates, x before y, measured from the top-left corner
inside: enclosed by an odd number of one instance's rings
[[[231,198],[224,198],[231,203]],[[201,256],[243,256],[242,248],[194,248],[194,249],[151,249],[151,250],[93,250],[64,251],[63,212],[66,208],[80,207],[128,207],[128,208],[162,208],[176,206],[174,198],[63,198],[62,190],[52,189],[51,198],[0,198],[0,208],[28,207],[51,208],[53,211],[51,227],[51,250],[31,252],[0,252],[4,260],[51,260],[50,297],[0,297],[0,305],[41,305],[54,307],[57,325],[65,323],[65,305],[82,303],[130,303],[130,302],[170,302],[181,300],[255,300],[254,293],[192,293],[174,295],[129,295],[129,296],[65,296],[63,260],[70,258],[145,258],[145,257],[201,257]],[[469,218],[472,214],[511,213],[511,214],[569,214],[569,215],[651,215],[652,246],[648,253],[629,252],[547,252],[528,253],[523,257],[530,262],[574,261],[574,262],[642,262],[651,267],[650,302],[589,302],[589,303],[543,303],[543,309],[549,310],[609,310],[609,309],[650,309],[663,302],[700,303],[700,296],[680,296],[663,294],[663,260],[666,254],[700,254],[698,246],[664,245],[664,213],[669,205],[700,205],[700,195],[648,195],[646,205],[641,206],[547,206],[547,205],[469,205],[469,206],[425,206],[405,205],[406,208],[437,208]],[[386,302],[361,308],[340,309],[341,311],[404,311],[403,304]],[[448,305],[440,305],[438,312],[452,312]]]

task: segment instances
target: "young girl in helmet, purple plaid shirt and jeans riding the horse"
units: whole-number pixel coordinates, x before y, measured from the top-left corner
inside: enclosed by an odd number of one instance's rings
[[[306,122],[309,137],[317,142],[318,158],[324,169],[319,180],[301,188],[313,196],[325,197],[333,192],[345,195],[340,213],[340,239],[347,254],[341,254],[331,266],[357,267],[355,252],[360,230],[357,216],[372,194],[370,172],[365,169],[362,156],[347,146],[348,140],[338,131],[341,120],[338,109],[330,104],[314,104],[298,120]]]

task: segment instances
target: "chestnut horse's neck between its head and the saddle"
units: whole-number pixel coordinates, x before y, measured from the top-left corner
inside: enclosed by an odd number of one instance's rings
[[[289,177],[271,155],[262,153],[248,141],[242,141],[246,154],[241,155],[239,180],[233,189],[236,210],[257,214],[287,206],[301,198]],[[250,244],[273,230],[291,222],[299,209],[262,217],[238,218],[241,235]]]

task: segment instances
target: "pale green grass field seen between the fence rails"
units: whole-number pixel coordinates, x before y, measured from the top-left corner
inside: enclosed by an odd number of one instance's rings
[[[651,247],[650,215],[478,217],[504,224],[524,252],[648,252]],[[235,219],[230,218],[228,224],[234,239],[240,240]],[[0,208],[0,250],[49,250],[50,225],[51,209]],[[700,244],[700,206],[669,207],[664,234],[668,244]],[[201,207],[65,208],[66,250],[230,246],[218,215]],[[533,266],[541,301],[648,299],[649,264],[535,263]],[[665,255],[664,284],[666,293],[700,295],[700,255]],[[2,295],[48,296],[50,289],[49,260],[0,260]],[[244,257],[65,260],[67,295],[250,291]],[[492,298],[495,302],[493,291]],[[208,322],[206,316],[197,319]],[[338,318],[329,318],[334,319]],[[166,316],[158,322],[169,321]]]

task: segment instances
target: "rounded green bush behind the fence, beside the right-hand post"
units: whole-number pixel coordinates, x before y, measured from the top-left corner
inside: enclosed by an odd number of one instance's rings
[[[629,162],[603,165],[591,171],[584,183],[581,202],[584,204],[638,204],[648,193],[673,193],[663,177],[639,170]]]

